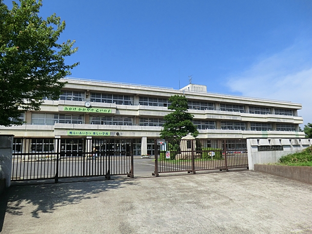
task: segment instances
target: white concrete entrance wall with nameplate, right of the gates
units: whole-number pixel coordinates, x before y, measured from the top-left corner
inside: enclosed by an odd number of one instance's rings
[[[250,138],[247,139],[249,170],[254,170],[254,164],[275,163],[281,156],[300,152],[312,145],[312,139],[307,138]],[[260,151],[263,146],[282,146],[283,150]]]

